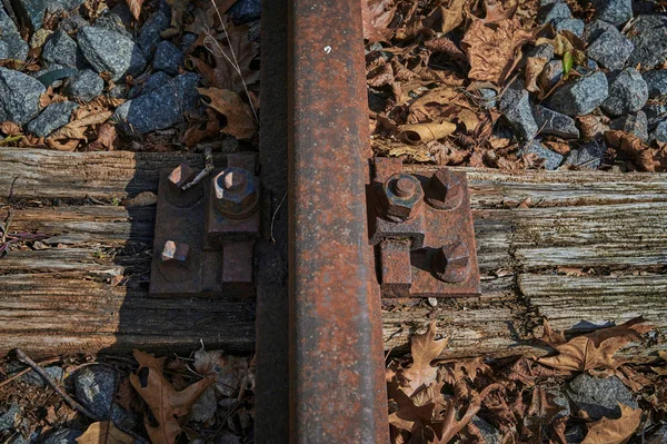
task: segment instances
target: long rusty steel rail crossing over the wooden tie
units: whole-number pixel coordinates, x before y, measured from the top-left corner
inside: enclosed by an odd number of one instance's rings
[[[386,443],[361,3],[288,11],[290,442]]]

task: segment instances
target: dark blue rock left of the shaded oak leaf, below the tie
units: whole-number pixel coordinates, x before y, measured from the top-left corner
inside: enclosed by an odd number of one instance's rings
[[[99,418],[108,420],[116,393],[116,372],[102,365],[83,367],[72,375],[77,399]]]

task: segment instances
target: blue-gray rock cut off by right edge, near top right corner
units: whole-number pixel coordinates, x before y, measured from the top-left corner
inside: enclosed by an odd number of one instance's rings
[[[628,31],[635,46],[627,65],[643,69],[654,69],[667,60],[667,17],[639,16]]]

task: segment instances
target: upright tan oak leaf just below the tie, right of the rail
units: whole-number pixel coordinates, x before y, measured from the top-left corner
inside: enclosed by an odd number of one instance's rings
[[[438,368],[430,365],[447,346],[447,338],[436,339],[436,322],[431,320],[425,334],[410,338],[412,365],[400,372],[399,381],[408,396],[436,382]]]

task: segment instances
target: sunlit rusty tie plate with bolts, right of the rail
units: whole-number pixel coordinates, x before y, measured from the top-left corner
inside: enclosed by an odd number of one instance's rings
[[[407,174],[396,158],[376,158],[374,167],[369,238],[382,297],[479,295],[466,174]]]

